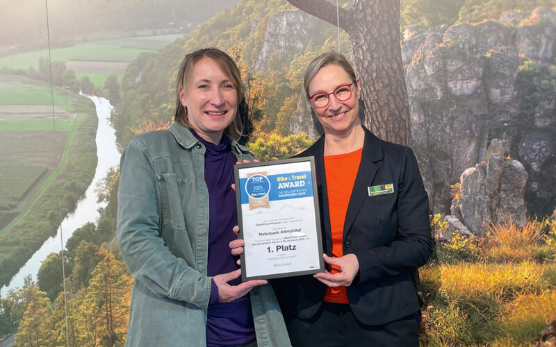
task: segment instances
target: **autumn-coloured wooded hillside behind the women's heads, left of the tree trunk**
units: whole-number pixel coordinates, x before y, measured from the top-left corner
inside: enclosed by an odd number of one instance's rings
[[[126,144],[133,137],[132,129],[142,128],[148,121],[172,120],[179,62],[186,53],[206,46],[228,51],[238,61],[244,85],[250,86],[245,90],[246,101],[256,130],[278,129],[286,135],[295,111],[291,98],[298,97],[304,67],[316,53],[337,47],[330,39],[335,33],[334,26],[295,10],[286,1],[243,0],[187,38],[156,55],[144,54],[129,66],[122,82],[122,101],[117,105],[117,136]],[[344,35],[342,39],[347,53],[349,42]]]

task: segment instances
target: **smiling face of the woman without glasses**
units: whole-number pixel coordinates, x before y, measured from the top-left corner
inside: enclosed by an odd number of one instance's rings
[[[238,92],[231,78],[214,60],[204,57],[193,67],[179,99],[187,108],[191,128],[203,139],[219,144],[238,110]]]

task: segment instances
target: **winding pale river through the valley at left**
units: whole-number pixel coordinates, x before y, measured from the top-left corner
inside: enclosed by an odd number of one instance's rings
[[[99,219],[99,208],[104,208],[106,203],[97,203],[97,194],[95,187],[97,183],[106,177],[106,172],[111,167],[120,163],[120,153],[117,151],[115,130],[110,125],[110,116],[113,109],[107,99],[97,96],[88,96],[97,108],[97,116],[99,117],[99,127],[97,129],[97,169],[92,183],[85,191],[83,197],[74,212],[67,214],[65,219],[60,223],[56,237],[51,237],[42,244],[40,249],[36,251],[25,265],[19,269],[19,272],[12,278],[8,286],[2,287],[0,294],[6,298],[8,291],[15,287],[23,287],[24,278],[31,274],[33,280],[37,280],[37,273],[40,264],[47,259],[50,253],[58,253],[61,247],[65,247],[65,242],[69,239],[77,228],[90,221],[96,222]],[[62,239],[63,235],[63,239]],[[60,269],[61,271],[61,269]],[[66,276],[69,274],[66,273]]]

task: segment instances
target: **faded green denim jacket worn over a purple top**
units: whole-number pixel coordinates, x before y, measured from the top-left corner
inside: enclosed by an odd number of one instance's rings
[[[231,141],[241,160],[249,149]],[[135,278],[126,346],[206,346],[211,295],[205,148],[190,131],[138,135],[120,163],[117,243]],[[250,291],[258,346],[290,346],[270,284]]]

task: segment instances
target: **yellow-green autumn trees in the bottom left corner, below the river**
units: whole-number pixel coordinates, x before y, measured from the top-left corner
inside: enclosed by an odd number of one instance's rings
[[[100,247],[96,255],[100,261],[88,287],[72,282],[72,274],[67,293],[54,303],[31,280],[10,290],[11,305],[25,310],[14,347],[124,346],[133,278],[117,253]]]

